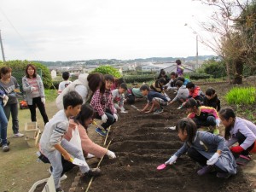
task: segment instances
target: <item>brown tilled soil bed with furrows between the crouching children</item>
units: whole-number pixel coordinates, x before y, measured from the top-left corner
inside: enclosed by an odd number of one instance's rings
[[[173,98],[173,96],[172,96]],[[143,108],[145,102],[135,105]],[[164,171],[156,167],[164,163],[182,146],[177,132],[166,129],[186,116],[178,105],[165,108],[158,115],[139,113],[129,105],[129,113],[121,114],[113,125],[110,149],[116,152],[116,160],[102,161],[102,176],[97,177],[90,191],[251,191],[247,177],[238,169],[236,177],[220,179],[216,172],[199,177],[199,167],[183,155],[173,166]],[[80,180],[84,191],[89,179]]]

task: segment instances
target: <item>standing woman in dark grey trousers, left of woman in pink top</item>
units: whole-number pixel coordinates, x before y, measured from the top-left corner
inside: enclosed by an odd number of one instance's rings
[[[12,76],[12,69],[10,67],[2,67],[0,69],[0,77],[0,85],[9,97],[8,102],[3,107],[4,113],[8,121],[10,114],[12,115],[14,137],[23,137],[24,134],[19,132],[18,100],[16,96],[16,92],[20,92],[20,85],[15,77]]]

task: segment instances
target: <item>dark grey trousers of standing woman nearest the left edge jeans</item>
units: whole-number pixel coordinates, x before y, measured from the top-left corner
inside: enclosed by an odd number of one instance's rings
[[[6,118],[9,121],[9,115],[12,115],[14,134],[19,133],[19,119],[18,119],[18,102],[14,104],[7,104],[3,107]]]

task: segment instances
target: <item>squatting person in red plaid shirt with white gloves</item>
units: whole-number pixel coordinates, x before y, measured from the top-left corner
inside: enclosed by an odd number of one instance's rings
[[[100,127],[96,128],[96,133],[102,137],[107,136],[108,127],[118,120],[117,111],[113,107],[112,93],[110,90],[113,82],[112,75],[105,75],[105,84],[102,85],[100,90],[96,90],[90,102],[90,106],[96,110],[96,119],[102,119],[104,130]]]

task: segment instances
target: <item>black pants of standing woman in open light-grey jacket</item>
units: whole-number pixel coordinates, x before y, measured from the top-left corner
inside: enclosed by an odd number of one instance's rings
[[[28,108],[31,113],[31,120],[32,122],[37,121],[37,111],[36,111],[37,106],[44,119],[44,125],[45,125],[49,121],[49,119],[44,108],[44,103],[41,101],[41,97],[33,98],[32,105],[28,105]]]

